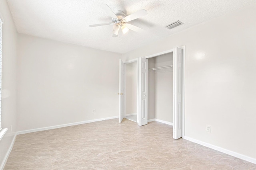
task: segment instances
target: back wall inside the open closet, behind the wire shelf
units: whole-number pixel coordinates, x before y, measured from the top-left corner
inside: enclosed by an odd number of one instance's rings
[[[155,67],[173,65],[173,53],[155,57]],[[151,71],[155,73],[155,117],[172,123],[173,70]]]

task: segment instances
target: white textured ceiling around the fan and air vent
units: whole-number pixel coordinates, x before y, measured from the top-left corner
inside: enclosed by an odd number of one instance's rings
[[[19,33],[83,45],[95,49],[126,53],[198,23],[255,3],[255,0],[7,0]],[[122,41],[112,37],[112,25],[89,27],[111,22],[100,7],[108,6],[127,15],[140,9],[148,15],[129,23],[145,29],[129,31]],[[166,29],[180,20],[184,24]],[[212,25],[214,26],[214,25]]]

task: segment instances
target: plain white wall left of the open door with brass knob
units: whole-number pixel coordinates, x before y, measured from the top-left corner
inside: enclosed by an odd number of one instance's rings
[[[18,131],[117,116],[120,57],[19,34]]]

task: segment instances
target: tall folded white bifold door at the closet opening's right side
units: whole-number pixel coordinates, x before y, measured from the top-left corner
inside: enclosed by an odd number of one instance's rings
[[[182,137],[182,49],[173,53],[173,138]]]

